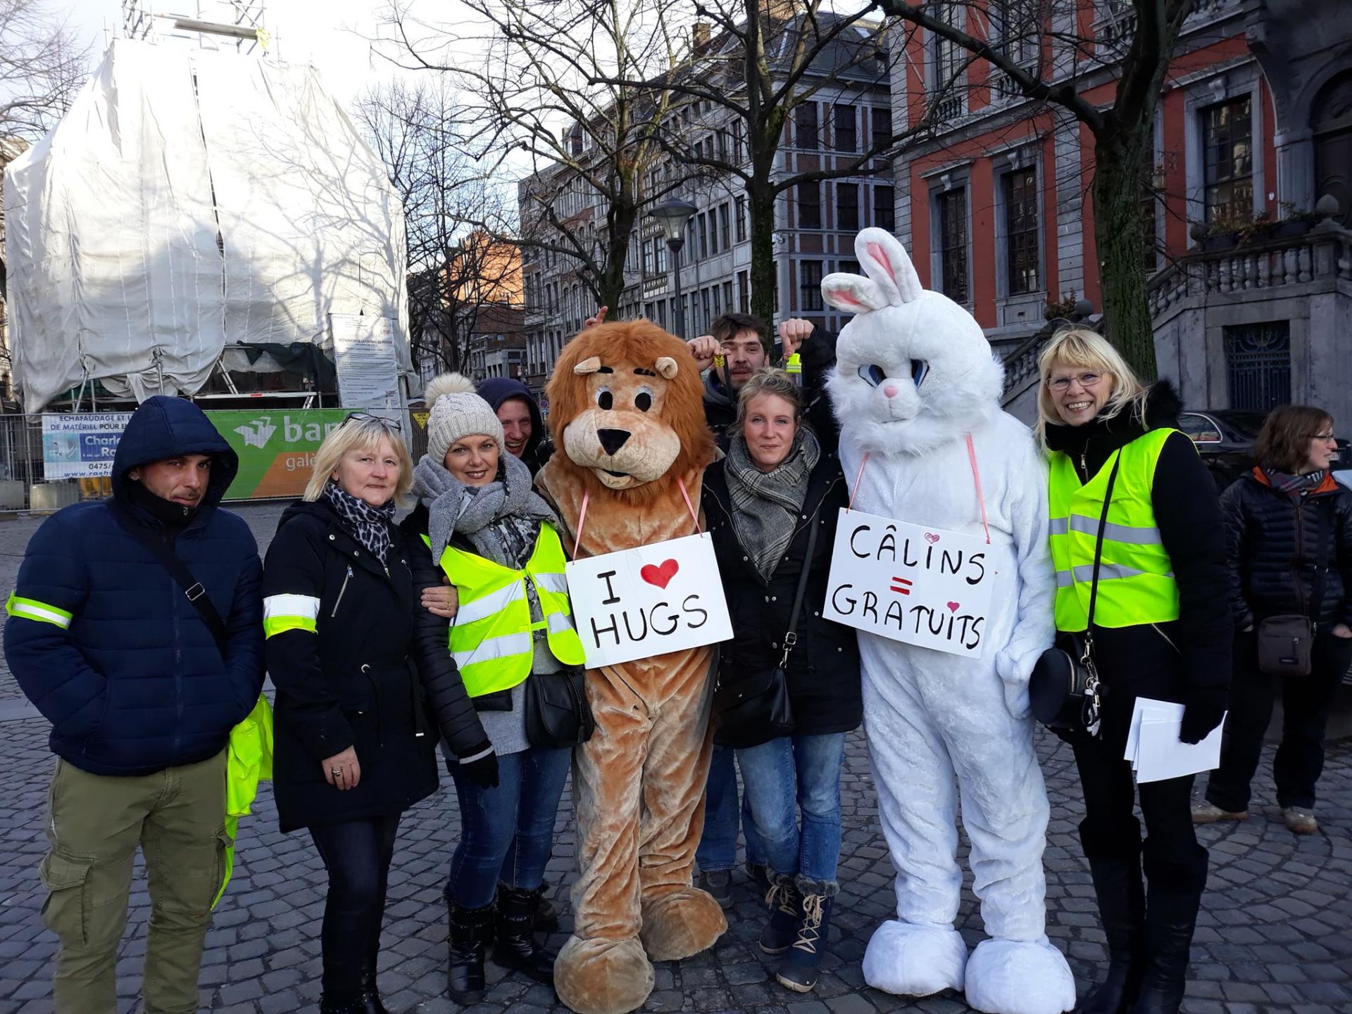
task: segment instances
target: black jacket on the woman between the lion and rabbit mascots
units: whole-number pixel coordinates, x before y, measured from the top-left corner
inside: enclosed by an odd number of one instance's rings
[[[788,656],[788,695],[798,722],[796,735],[859,728],[863,720],[859,640],[852,628],[822,618],[836,521],[846,502],[840,459],[823,451],[813,469],[798,529],[768,582],[752,566],[737,540],[723,469],[723,460],[708,466],[703,490],[704,517],[714,537],[714,554],[733,621],[733,639],[721,648],[719,672],[746,674],[779,666],[794,593],[807,556],[808,518],[819,505],[813,570],[798,617],[798,644]]]

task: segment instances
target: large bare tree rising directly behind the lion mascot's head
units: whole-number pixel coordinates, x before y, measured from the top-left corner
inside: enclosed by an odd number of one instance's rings
[[[470,24],[433,24],[396,3],[392,58],[452,76],[466,101],[466,150],[530,173],[515,239],[566,258],[596,302],[615,306],[642,216],[687,178],[681,166],[650,173],[671,162],[658,124],[687,100],[648,82],[669,80],[688,46],[661,0],[464,8]]]

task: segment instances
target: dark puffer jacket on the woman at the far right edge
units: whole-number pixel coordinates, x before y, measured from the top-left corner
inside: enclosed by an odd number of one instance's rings
[[[1352,491],[1325,475],[1307,496],[1279,493],[1253,469],[1221,494],[1234,628],[1279,613],[1310,616],[1320,529],[1325,543],[1320,628],[1352,622]]]

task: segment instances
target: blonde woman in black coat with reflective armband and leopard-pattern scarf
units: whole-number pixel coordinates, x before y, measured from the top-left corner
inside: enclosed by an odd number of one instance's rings
[[[438,733],[460,756],[488,747],[445,621],[418,605],[410,559],[426,550],[392,524],[411,483],[395,425],[353,413],[315,452],[264,566],[277,816],[310,830],[329,871],[322,1014],[387,1014],[376,960],[399,818],[437,790]],[[441,651],[415,666],[419,632],[438,626]],[[495,764],[489,751],[462,770],[487,784]]]

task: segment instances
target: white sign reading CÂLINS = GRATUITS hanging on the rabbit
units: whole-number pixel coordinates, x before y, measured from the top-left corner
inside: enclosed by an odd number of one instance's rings
[[[980,658],[995,589],[986,539],[841,509],[827,620]]]

